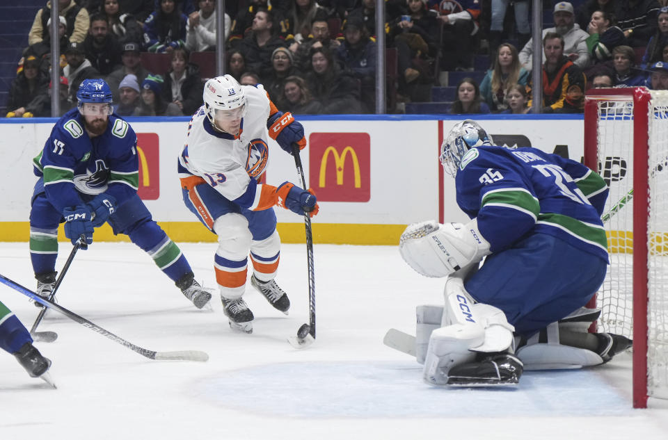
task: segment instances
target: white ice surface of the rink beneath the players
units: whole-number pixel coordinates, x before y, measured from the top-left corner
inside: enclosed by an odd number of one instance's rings
[[[197,279],[214,284],[214,243],[181,243]],[[71,246],[61,243],[56,268]],[[33,289],[27,243],[0,243],[0,273]],[[59,304],[135,345],[204,350],[205,363],[152,361],[51,311],[38,343],[58,389],[0,353],[0,440],[667,439],[668,401],[634,410],[630,356],[570,372],[528,372],[515,389],[435,389],[385,331],[415,333],[415,306],[441,302],[396,247],[315,245],[317,341],[286,341],[308,321],[305,245],[283,245],[278,283],[289,316],[249,288],[253,334],[234,334],[218,294],[198,311],[129,243],[79,251]],[[27,327],[37,309],[0,284]]]

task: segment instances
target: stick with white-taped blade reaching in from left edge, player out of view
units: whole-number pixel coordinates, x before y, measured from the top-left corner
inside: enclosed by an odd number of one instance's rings
[[[65,307],[59,306],[58,304],[49,300],[48,298],[42,298],[37,293],[25,288],[24,286],[18,284],[17,282],[13,282],[11,279],[1,274],[0,274],[0,282],[6,284],[7,286],[10,286],[15,291],[23,293],[29,298],[32,298],[33,300],[39,302],[43,306],[49,307],[49,309],[54,309],[55,311],[63,313],[63,315],[67,316],[67,318],[70,318],[71,320],[83,325],[84,327],[93,330],[93,332],[99,333],[102,336],[111,339],[111,341],[123,345],[125,348],[129,348],[130,350],[139,353],[143,357],[148,357],[148,359],[156,359],[159,361],[202,361],[202,362],[207,361],[209,359],[209,355],[207,355],[205,352],[197,350],[185,350],[185,351],[175,351],[175,352],[154,352],[152,350],[146,350],[145,348],[138,347],[133,343],[125,341],[125,339],[122,339],[120,336],[116,336],[116,334],[109,332],[109,330],[103,329],[99,325],[91,323],[86,318],[82,318],[81,316],[77,315],[77,313],[69,311],[65,309]]]

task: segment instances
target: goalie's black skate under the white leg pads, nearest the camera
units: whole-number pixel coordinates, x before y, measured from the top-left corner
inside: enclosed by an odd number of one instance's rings
[[[454,386],[516,385],[524,371],[520,359],[509,353],[479,353],[477,359],[454,366],[447,373],[447,384]]]

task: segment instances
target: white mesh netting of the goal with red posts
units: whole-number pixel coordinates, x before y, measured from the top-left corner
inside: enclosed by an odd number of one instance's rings
[[[633,247],[641,238],[633,234],[633,206],[640,201],[633,190],[633,145],[634,130],[647,130],[647,391],[668,398],[668,92],[651,92],[647,124],[634,119],[633,96],[598,97],[597,104],[598,171],[610,186],[603,224],[611,263],[597,294],[602,309],[598,331],[633,338],[638,325],[633,319]]]

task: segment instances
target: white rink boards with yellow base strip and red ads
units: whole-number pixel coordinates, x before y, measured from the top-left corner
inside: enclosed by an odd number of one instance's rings
[[[393,245],[411,222],[463,221],[453,181],[438,161],[440,142],[461,117],[451,115],[303,116],[308,147],[301,152],[308,186],[320,213],[313,220],[316,243]],[[504,142],[530,143],[546,152],[582,157],[582,115],[479,115],[488,133]],[[176,157],[189,118],[129,118],[138,133],[139,194],[175,241],[214,241],[182,203]],[[29,199],[35,183],[32,158],[55,120],[0,119],[0,241],[27,241]],[[267,183],[298,182],[294,159],[271,141]],[[605,163],[602,164],[605,166]],[[613,170],[614,172],[614,170]],[[284,243],[304,241],[303,219],[276,209]],[[62,231],[61,231],[62,233]],[[125,238],[125,237],[123,237]],[[64,237],[63,237],[64,239]],[[111,228],[96,241],[121,241]]]

